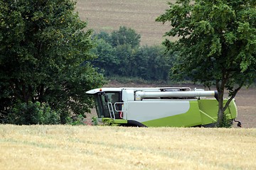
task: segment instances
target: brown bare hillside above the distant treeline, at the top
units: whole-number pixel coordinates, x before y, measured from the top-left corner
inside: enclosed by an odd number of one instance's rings
[[[141,45],[159,45],[168,23],[155,21],[169,8],[167,0],[77,0],[80,18],[87,21],[88,28],[112,32],[119,26],[132,28],[139,33]]]

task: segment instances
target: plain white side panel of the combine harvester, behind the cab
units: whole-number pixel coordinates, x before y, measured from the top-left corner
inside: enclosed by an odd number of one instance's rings
[[[126,108],[127,120],[136,120],[138,122],[145,122],[159,118],[166,118],[172,115],[186,113],[190,104],[189,101],[129,101]]]

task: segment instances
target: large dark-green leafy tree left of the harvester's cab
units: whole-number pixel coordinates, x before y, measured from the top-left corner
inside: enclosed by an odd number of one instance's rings
[[[16,103],[48,103],[68,115],[92,106],[85,91],[100,86],[90,66],[91,30],[70,0],[0,1],[0,123]]]

